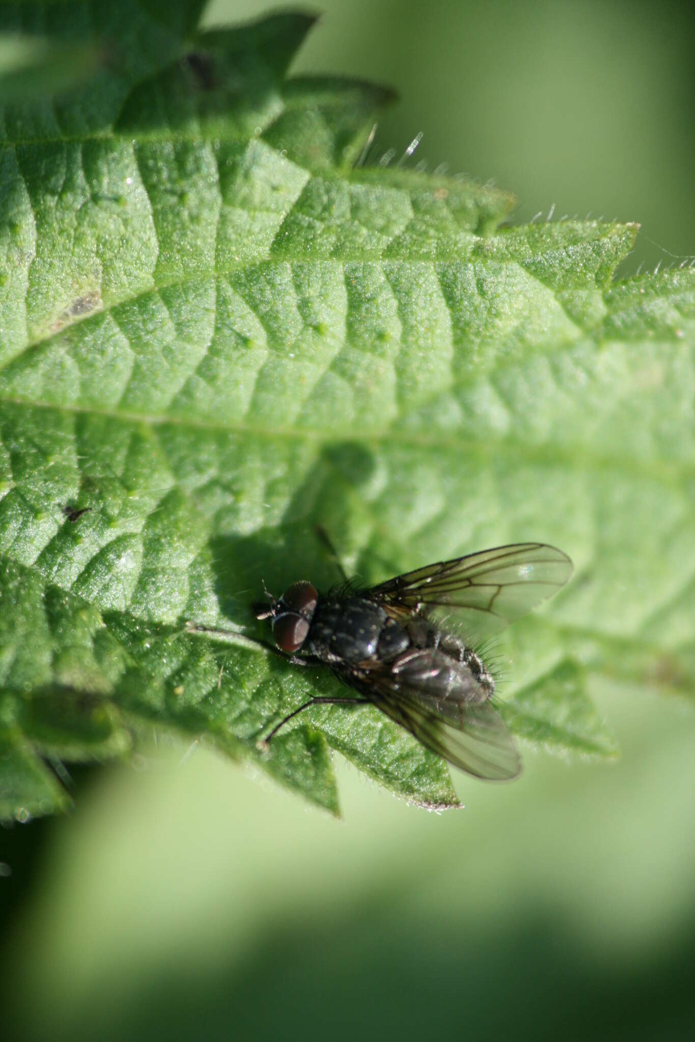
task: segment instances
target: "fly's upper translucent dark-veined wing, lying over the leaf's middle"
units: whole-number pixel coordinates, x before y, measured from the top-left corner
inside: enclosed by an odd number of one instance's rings
[[[516,543],[440,561],[372,587],[363,596],[398,616],[453,615],[469,636],[502,629],[551,597],[572,574],[554,546]]]

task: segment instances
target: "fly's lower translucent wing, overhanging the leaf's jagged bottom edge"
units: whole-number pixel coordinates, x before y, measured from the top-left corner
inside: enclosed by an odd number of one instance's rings
[[[499,714],[489,700],[472,701],[480,694],[472,675],[443,689],[438,654],[422,648],[397,670],[373,660],[361,665],[361,684],[349,683],[454,767],[489,780],[516,777],[521,760]]]

